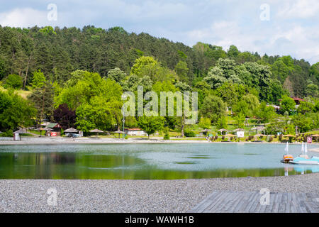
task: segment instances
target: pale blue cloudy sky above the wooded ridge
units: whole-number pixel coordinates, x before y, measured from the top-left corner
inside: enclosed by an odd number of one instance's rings
[[[53,8],[57,7],[57,20]],[[48,14],[49,18],[48,19]],[[1,26],[101,28],[319,61],[319,0],[0,0]]]

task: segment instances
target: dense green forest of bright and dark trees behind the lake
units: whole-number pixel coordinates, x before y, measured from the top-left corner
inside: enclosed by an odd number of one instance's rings
[[[301,131],[319,127],[319,62],[310,65],[291,56],[260,56],[241,52],[235,45],[228,50],[206,43],[189,47],[147,33],[128,33],[121,27],[0,26],[0,80],[8,90],[0,96],[1,131],[32,124],[28,118],[37,125],[44,118],[59,120],[67,122],[65,128],[83,131],[119,127],[121,94],[135,92],[138,85],[145,92],[198,92],[203,128],[208,121],[208,125],[227,127],[227,108],[232,109],[238,126],[245,117],[274,123],[276,114],[300,114],[299,118],[305,118],[302,123],[308,122],[299,126],[306,127]],[[14,89],[30,91],[28,100],[19,98]],[[289,96],[306,101],[295,109]],[[267,104],[279,105],[279,99],[283,107],[274,113]],[[16,114],[13,121],[9,110],[12,116],[15,111],[25,115]],[[141,126],[145,121],[128,118],[126,123]],[[160,122],[179,127],[184,134],[183,119],[167,117]],[[297,126],[298,119],[293,122]]]

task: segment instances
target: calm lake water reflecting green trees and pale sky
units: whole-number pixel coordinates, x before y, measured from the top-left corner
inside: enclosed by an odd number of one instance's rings
[[[319,172],[280,162],[284,144],[0,145],[0,179],[186,179]],[[309,145],[318,148],[318,145]],[[301,145],[289,145],[293,156]],[[316,155],[308,151],[308,155]]]

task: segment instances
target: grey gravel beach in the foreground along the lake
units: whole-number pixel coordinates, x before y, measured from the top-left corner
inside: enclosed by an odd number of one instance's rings
[[[55,188],[56,206],[47,189]],[[177,180],[1,179],[0,212],[186,212],[213,191],[319,193],[319,173]]]

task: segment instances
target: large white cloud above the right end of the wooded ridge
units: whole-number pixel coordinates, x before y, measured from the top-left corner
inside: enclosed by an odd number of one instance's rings
[[[201,41],[222,46],[224,50],[236,45],[241,51],[257,51],[261,55],[292,55],[310,63],[319,60],[319,31],[299,24],[268,29],[256,27],[247,31],[237,21],[216,21],[209,28],[189,31],[187,37],[194,44]]]

